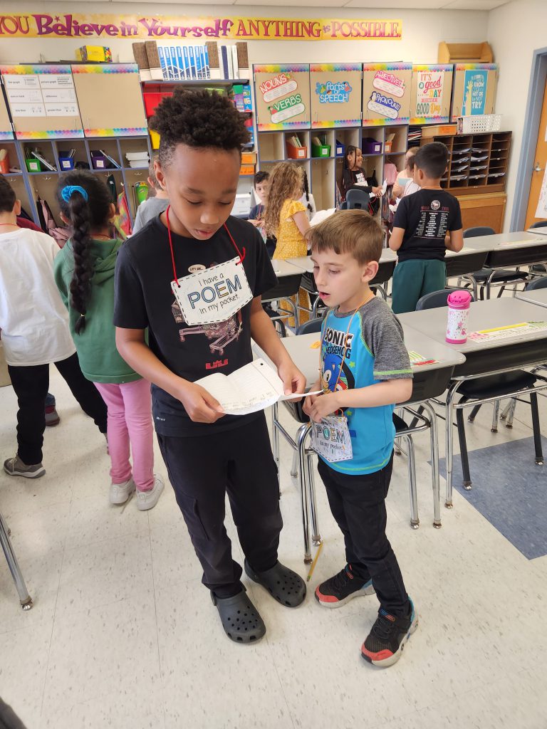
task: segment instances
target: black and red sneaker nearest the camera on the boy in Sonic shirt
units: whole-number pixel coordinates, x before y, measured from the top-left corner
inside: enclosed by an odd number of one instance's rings
[[[378,611],[376,623],[372,626],[361,646],[362,658],[374,666],[392,666],[401,657],[405,643],[418,627],[418,613],[409,598],[408,617],[389,615],[383,608]]]

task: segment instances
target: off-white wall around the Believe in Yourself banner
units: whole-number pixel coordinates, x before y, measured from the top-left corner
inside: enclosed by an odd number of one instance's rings
[[[21,4],[1,1],[0,13],[47,12],[50,15],[74,13],[141,14],[171,16],[241,16],[241,17],[349,17],[399,18],[403,20],[403,39],[400,41],[253,41],[249,42],[251,63],[329,63],[348,61],[413,61],[434,63],[440,41],[483,41],[488,27],[488,13],[483,11],[400,10],[360,8],[291,8],[245,5],[182,5],[133,2],[29,2]],[[58,61],[74,58],[74,50],[85,39],[7,39],[0,37],[0,62],[20,63]],[[103,43],[112,49],[113,60],[133,61],[131,39],[89,38],[89,44]],[[196,43],[198,41],[195,41]],[[231,41],[228,41],[231,42]]]

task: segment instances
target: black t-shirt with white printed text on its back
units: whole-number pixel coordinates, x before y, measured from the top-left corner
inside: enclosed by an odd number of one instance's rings
[[[444,238],[449,230],[460,230],[462,213],[454,195],[445,190],[419,190],[401,198],[393,227],[404,228],[399,261],[443,260]]]

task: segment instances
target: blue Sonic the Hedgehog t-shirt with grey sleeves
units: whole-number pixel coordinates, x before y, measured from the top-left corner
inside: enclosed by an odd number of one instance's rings
[[[362,306],[353,319],[352,315],[352,311],[330,311],[325,317],[321,338],[323,387],[330,391],[352,390],[384,380],[411,378],[403,329],[389,306],[375,298]],[[394,407],[346,408],[353,458],[331,462],[330,468],[350,475],[384,468],[395,438]]]

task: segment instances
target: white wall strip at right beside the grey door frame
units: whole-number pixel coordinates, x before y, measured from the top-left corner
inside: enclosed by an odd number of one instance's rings
[[[496,112],[503,115],[503,128],[513,130],[504,230],[509,230],[513,210],[532,55],[547,46],[546,28],[546,0],[513,0],[489,13],[488,40],[500,64]]]

